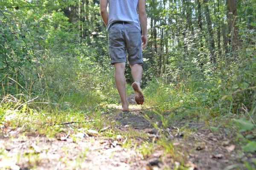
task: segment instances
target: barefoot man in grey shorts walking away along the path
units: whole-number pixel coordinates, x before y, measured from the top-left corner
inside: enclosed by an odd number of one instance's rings
[[[107,6],[109,11],[107,11]],[[108,27],[109,53],[111,64],[115,67],[115,82],[122,102],[122,111],[128,111],[125,82],[127,53],[128,64],[131,67],[131,75],[134,79],[132,87],[135,92],[135,101],[139,105],[144,102],[140,82],[143,72],[141,66],[143,63],[142,49],[145,48],[148,42],[145,0],[100,0],[100,12],[104,23]]]

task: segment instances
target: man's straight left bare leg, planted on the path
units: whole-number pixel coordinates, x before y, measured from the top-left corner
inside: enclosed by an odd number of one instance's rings
[[[122,111],[128,111],[126,99],[125,62],[115,63],[115,82],[122,103]]]

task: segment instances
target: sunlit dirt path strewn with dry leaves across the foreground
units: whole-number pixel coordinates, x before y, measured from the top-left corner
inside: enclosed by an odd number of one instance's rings
[[[77,135],[81,137],[74,142],[70,136],[60,140],[60,136],[66,135],[64,132],[49,139],[37,133],[20,136],[18,129],[2,127],[0,151],[9,159],[0,156],[0,169],[9,165],[10,169],[20,167],[22,170],[173,170],[184,163],[189,170],[236,170],[246,169],[243,167],[244,161],[255,168],[252,162],[255,161],[256,154],[244,153],[238,141],[234,141],[236,134],[227,135],[224,129],[212,132],[204,122],[186,119],[160,133],[152,127],[152,122],[156,120],[144,119],[141,106],[134,105],[134,95],[129,96],[128,101],[130,112],[104,113],[105,118],[119,122],[111,127],[119,134],[115,139],[107,135],[91,134],[87,137],[79,133]],[[186,127],[186,132],[181,130],[184,129],[182,127]],[[73,134],[72,128],[69,131]],[[129,132],[143,132],[144,135],[131,139],[131,147],[122,147],[130,140],[125,137],[125,133]],[[103,134],[104,130],[100,133]],[[134,149],[144,143],[156,143],[162,133],[169,134],[165,136],[166,140],[173,147],[174,155],[178,156],[165,153],[159,147],[161,145],[154,145],[152,153],[146,156]],[[17,155],[20,155],[18,159]]]

